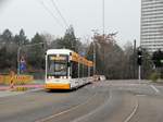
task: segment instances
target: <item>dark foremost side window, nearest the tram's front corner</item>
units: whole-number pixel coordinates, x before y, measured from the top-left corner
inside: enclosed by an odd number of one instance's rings
[[[78,78],[78,63],[72,61],[72,78]]]

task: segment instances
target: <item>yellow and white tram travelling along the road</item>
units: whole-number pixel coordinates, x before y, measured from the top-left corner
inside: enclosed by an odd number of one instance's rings
[[[92,80],[93,62],[68,49],[49,49],[46,54],[46,89],[73,89]]]

